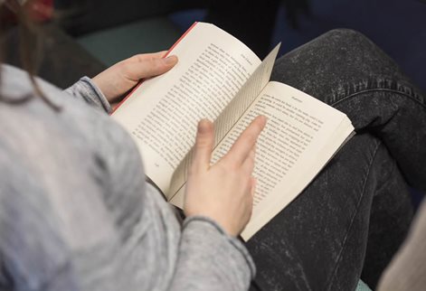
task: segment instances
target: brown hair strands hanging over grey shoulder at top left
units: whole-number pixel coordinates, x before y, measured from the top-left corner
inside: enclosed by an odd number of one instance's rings
[[[18,48],[19,59],[21,61],[22,68],[27,71],[29,79],[33,85],[34,93],[36,96],[43,99],[51,108],[59,110],[57,105],[53,104],[52,101],[43,94],[42,89],[37,84],[35,75],[37,73],[38,64],[41,62],[42,55],[42,34],[40,26],[37,23],[33,23],[30,17],[30,7],[32,1],[27,1],[25,5],[21,5],[17,0],[5,0],[3,4],[0,3],[0,38],[2,46],[5,45],[5,32],[17,25],[18,33]],[[11,21],[11,19],[15,19]],[[3,51],[0,48],[0,63],[3,55]],[[1,70],[0,70],[1,79]],[[24,95],[20,99],[10,99],[0,95],[0,101],[4,101],[9,104],[22,104],[30,99],[33,99],[34,94]]]

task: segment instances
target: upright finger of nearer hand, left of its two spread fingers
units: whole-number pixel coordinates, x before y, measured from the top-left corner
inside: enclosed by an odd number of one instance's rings
[[[195,153],[193,164],[196,170],[207,170],[210,167],[214,143],[213,123],[203,119],[198,123],[195,137]]]

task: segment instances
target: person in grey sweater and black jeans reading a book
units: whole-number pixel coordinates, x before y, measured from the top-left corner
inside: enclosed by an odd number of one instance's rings
[[[200,122],[180,224],[108,115],[138,80],[175,65],[163,55],[137,55],[65,91],[2,65],[0,289],[351,290],[364,261],[388,263],[411,221],[405,181],[426,188],[426,106],[373,42],[336,30],[277,61],[273,80],[345,112],[357,135],[246,244],[236,235],[250,218],[263,117],[212,167],[213,127]],[[413,255],[422,238],[413,232],[380,288],[424,286],[426,252]]]

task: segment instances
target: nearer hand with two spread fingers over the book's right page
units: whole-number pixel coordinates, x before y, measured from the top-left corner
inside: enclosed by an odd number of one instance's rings
[[[213,124],[198,124],[194,160],[186,183],[184,211],[186,216],[203,215],[237,236],[251,218],[256,180],[255,144],[266,124],[266,117],[256,117],[229,153],[210,166],[213,151]]]

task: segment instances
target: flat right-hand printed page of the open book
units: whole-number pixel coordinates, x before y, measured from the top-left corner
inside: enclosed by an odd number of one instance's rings
[[[268,122],[257,143],[253,175],[258,183],[243,239],[250,239],[296,198],[354,130],[346,115],[335,108],[298,89],[270,82],[217,146],[213,162],[259,115],[268,117]]]

